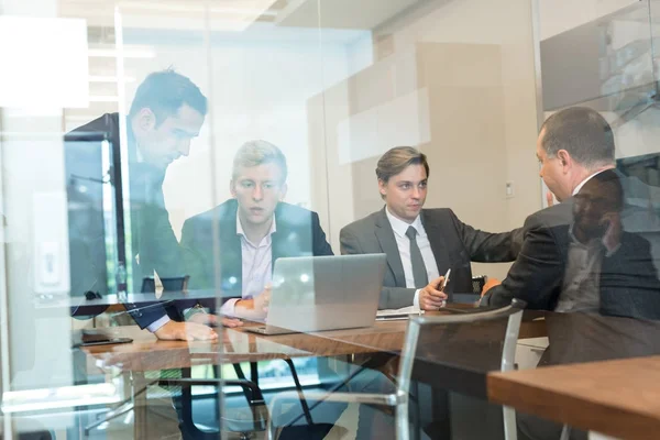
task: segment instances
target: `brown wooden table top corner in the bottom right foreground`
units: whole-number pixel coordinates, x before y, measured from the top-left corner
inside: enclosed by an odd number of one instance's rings
[[[488,374],[488,398],[624,439],[660,432],[660,356]]]

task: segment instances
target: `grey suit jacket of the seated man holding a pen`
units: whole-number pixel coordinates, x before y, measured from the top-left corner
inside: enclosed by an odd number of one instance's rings
[[[516,258],[520,246],[518,230],[488,233],[476,230],[458,219],[451,209],[422,209],[421,221],[426,229],[438,273],[443,275],[451,267],[451,280],[446,293],[472,293],[471,261],[495,263]],[[394,231],[385,208],[358,220],[340,232],[342,254],[387,255],[387,271],[378,308],[400,308],[413,305],[414,288],[406,288],[404,266],[396,245]]]

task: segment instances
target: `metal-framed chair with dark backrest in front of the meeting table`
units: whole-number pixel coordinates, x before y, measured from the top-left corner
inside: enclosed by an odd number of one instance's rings
[[[486,396],[485,376],[491,371],[514,370],[516,344],[526,304],[514,299],[509,306],[474,314],[413,317],[406,330],[400,355],[396,392],[392,394],[305,393],[306,399],[371,404],[395,409],[396,439],[409,439],[408,406],[413,370],[415,377],[432,377],[433,386],[457,389],[468,395]],[[457,381],[458,380],[458,381]],[[458,384],[457,384],[458,382]],[[464,382],[464,383],[463,383]],[[285,400],[299,393],[276,395],[271,404],[268,439],[275,440],[273,417]],[[503,408],[506,440],[516,440],[516,418],[512,408]],[[419,430],[416,427],[415,433]]]

